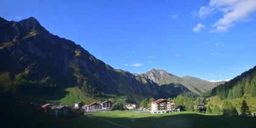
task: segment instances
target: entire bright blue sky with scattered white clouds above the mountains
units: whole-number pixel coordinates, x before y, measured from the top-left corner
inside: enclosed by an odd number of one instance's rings
[[[226,80],[256,65],[256,0],[1,0],[113,68]]]

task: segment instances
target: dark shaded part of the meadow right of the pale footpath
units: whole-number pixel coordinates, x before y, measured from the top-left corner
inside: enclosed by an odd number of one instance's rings
[[[148,117],[95,116],[127,127],[256,127],[256,118],[230,117],[181,113],[177,115],[152,115]]]

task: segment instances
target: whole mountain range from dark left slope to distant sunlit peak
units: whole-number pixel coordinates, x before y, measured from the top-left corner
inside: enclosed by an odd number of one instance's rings
[[[54,93],[79,87],[91,97],[126,96],[140,102],[201,94],[223,83],[158,69],[145,74],[114,69],[73,41],[51,34],[33,17],[19,22],[0,18],[0,60],[0,93]]]

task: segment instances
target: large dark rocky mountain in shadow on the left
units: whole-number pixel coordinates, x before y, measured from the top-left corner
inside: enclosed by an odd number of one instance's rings
[[[32,17],[19,22],[0,18],[0,60],[0,75],[10,73],[12,80],[59,88],[79,86],[94,96],[124,95],[138,102],[189,92],[183,85],[166,85],[163,90],[153,82],[155,77],[151,80],[113,69],[73,41],[52,35]]]

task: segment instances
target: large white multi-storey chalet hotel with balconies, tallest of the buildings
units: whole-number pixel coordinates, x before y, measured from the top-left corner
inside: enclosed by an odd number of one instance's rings
[[[176,109],[175,102],[173,100],[168,101],[167,99],[157,99],[151,102],[151,113],[168,113],[168,112],[180,112],[179,108]]]

